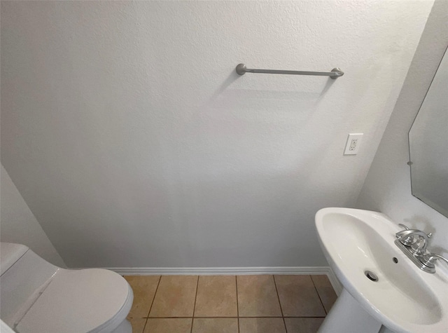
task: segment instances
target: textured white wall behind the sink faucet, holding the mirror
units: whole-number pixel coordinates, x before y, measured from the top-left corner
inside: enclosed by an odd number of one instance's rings
[[[448,46],[448,2],[435,1],[357,207],[433,232],[430,250],[448,255],[448,218],[411,195],[407,132]],[[441,132],[440,135],[447,135]]]

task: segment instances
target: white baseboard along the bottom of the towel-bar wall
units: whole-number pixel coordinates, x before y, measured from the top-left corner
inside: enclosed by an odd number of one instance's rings
[[[326,275],[336,294],[342,285],[328,266],[298,267],[104,267],[123,276]]]

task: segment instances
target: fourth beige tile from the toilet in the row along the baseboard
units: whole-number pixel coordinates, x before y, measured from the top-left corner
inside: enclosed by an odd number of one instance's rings
[[[241,317],[281,317],[273,276],[237,276]]]

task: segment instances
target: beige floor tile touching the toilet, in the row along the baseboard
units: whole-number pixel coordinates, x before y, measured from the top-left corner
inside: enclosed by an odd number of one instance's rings
[[[148,317],[160,276],[125,276],[134,292],[134,302],[127,318]]]

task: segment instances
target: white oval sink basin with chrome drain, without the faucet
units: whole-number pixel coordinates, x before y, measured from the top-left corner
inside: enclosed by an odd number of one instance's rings
[[[448,277],[412,264],[393,243],[402,229],[386,215],[323,208],[316,228],[337,278],[373,318],[395,332],[448,332]]]

